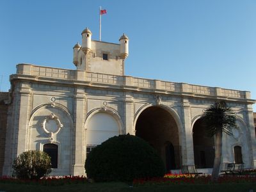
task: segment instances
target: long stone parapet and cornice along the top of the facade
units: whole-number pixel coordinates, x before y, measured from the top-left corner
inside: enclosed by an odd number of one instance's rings
[[[33,74],[38,75],[35,76]],[[214,99],[239,100],[243,102],[246,100],[246,102],[252,104],[256,102],[256,100],[250,99],[250,92],[246,91],[229,90],[225,88],[200,86],[188,83],[173,83],[131,76],[97,74],[81,70],[42,67],[29,64],[17,65],[17,74],[10,76],[10,81],[14,81],[14,79],[75,86],[122,89],[132,92],[182,95],[186,97],[208,97]]]

